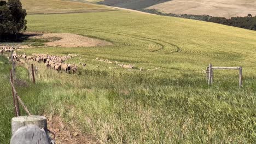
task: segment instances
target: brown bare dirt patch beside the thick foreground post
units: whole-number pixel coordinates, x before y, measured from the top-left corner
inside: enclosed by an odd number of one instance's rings
[[[94,136],[82,134],[78,129],[64,124],[58,116],[49,116],[47,118],[48,129],[56,135],[56,144],[100,143]]]

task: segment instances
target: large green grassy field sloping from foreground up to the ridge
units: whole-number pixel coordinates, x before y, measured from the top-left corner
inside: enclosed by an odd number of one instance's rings
[[[75,33],[114,44],[25,50],[28,55],[74,53],[79,56],[68,62],[88,65],[67,75],[37,64],[37,85],[19,67],[23,84],[18,92],[32,113],[61,116],[102,143],[256,142],[256,32],[130,11],[28,15],[27,21],[28,31]],[[132,63],[135,69],[92,61],[96,57]],[[1,57],[2,62],[6,59]],[[243,88],[238,88],[238,71],[224,70],[216,71],[209,87],[200,73],[209,63],[242,66]],[[156,67],[160,69],[147,71]],[[1,76],[8,75],[9,66],[1,68]],[[0,80],[1,114],[10,125],[7,80]],[[7,143],[9,129],[1,127],[0,142]]]

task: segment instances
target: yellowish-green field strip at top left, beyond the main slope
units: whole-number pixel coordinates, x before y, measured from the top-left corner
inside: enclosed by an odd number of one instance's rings
[[[103,5],[61,0],[21,0],[21,3],[28,14],[86,13],[115,10]]]

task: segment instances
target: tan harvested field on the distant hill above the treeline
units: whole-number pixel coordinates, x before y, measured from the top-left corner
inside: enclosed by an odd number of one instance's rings
[[[162,13],[212,15],[220,17],[256,15],[256,0],[173,0],[153,5]]]

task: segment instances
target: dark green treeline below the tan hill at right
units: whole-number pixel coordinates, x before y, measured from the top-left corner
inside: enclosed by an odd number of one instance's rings
[[[246,29],[251,29],[253,31],[256,31],[256,16],[252,16],[251,14],[248,14],[245,17],[231,17],[230,19],[226,19],[225,17],[214,17],[210,15],[165,14],[155,9],[146,9],[143,11],[147,13],[157,14],[157,15],[182,17],[185,19],[220,23],[223,25],[246,28]]]

